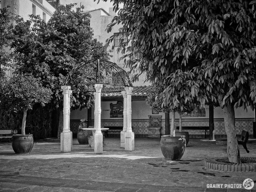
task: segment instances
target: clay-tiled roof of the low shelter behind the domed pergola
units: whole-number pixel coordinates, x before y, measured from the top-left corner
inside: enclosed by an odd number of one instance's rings
[[[150,90],[151,90],[151,86],[134,86],[132,90],[132,95],[147,96]],[[102,97],[123,96],[121,91],[124,91],[124,87],[103,88],[101,91],[101,96]]]

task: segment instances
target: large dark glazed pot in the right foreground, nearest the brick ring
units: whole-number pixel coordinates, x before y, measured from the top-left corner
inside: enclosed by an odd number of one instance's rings
[[[184,135],[163,135],[160,140],[161,151],[165,159],[179,160],[182,158],[186,149],[186,140]]]

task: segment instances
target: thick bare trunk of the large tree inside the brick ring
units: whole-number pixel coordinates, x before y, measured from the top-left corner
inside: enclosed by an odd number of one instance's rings
[[[226,105],[223,108],[224,124],[228,138],[227,154],[229,162],[241,163],[240,151],[235,131],[235,110],[234,105]]]

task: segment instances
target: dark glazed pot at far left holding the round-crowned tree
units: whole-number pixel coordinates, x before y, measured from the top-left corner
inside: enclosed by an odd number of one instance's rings
[[[16,154],[28,154],[34,145],[32,134],[16,134],[12,135],[12,149]]]

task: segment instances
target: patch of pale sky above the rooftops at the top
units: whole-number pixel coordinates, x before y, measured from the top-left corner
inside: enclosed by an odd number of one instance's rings
[[[70,3],[77,3],[76,7],[80,7],[81,5],[84,5],[84,10],[94,10],[94,9],[100,9],[103,8],[105,11],[108,12],[108,8],[113,7],[113,2],[110,2],[108,0],[107,2],[100,0],[100,2],[97,4],[98,0],[60,0],[60,4],[66,5]],[[74,8],[75,10],[75,8]]]

